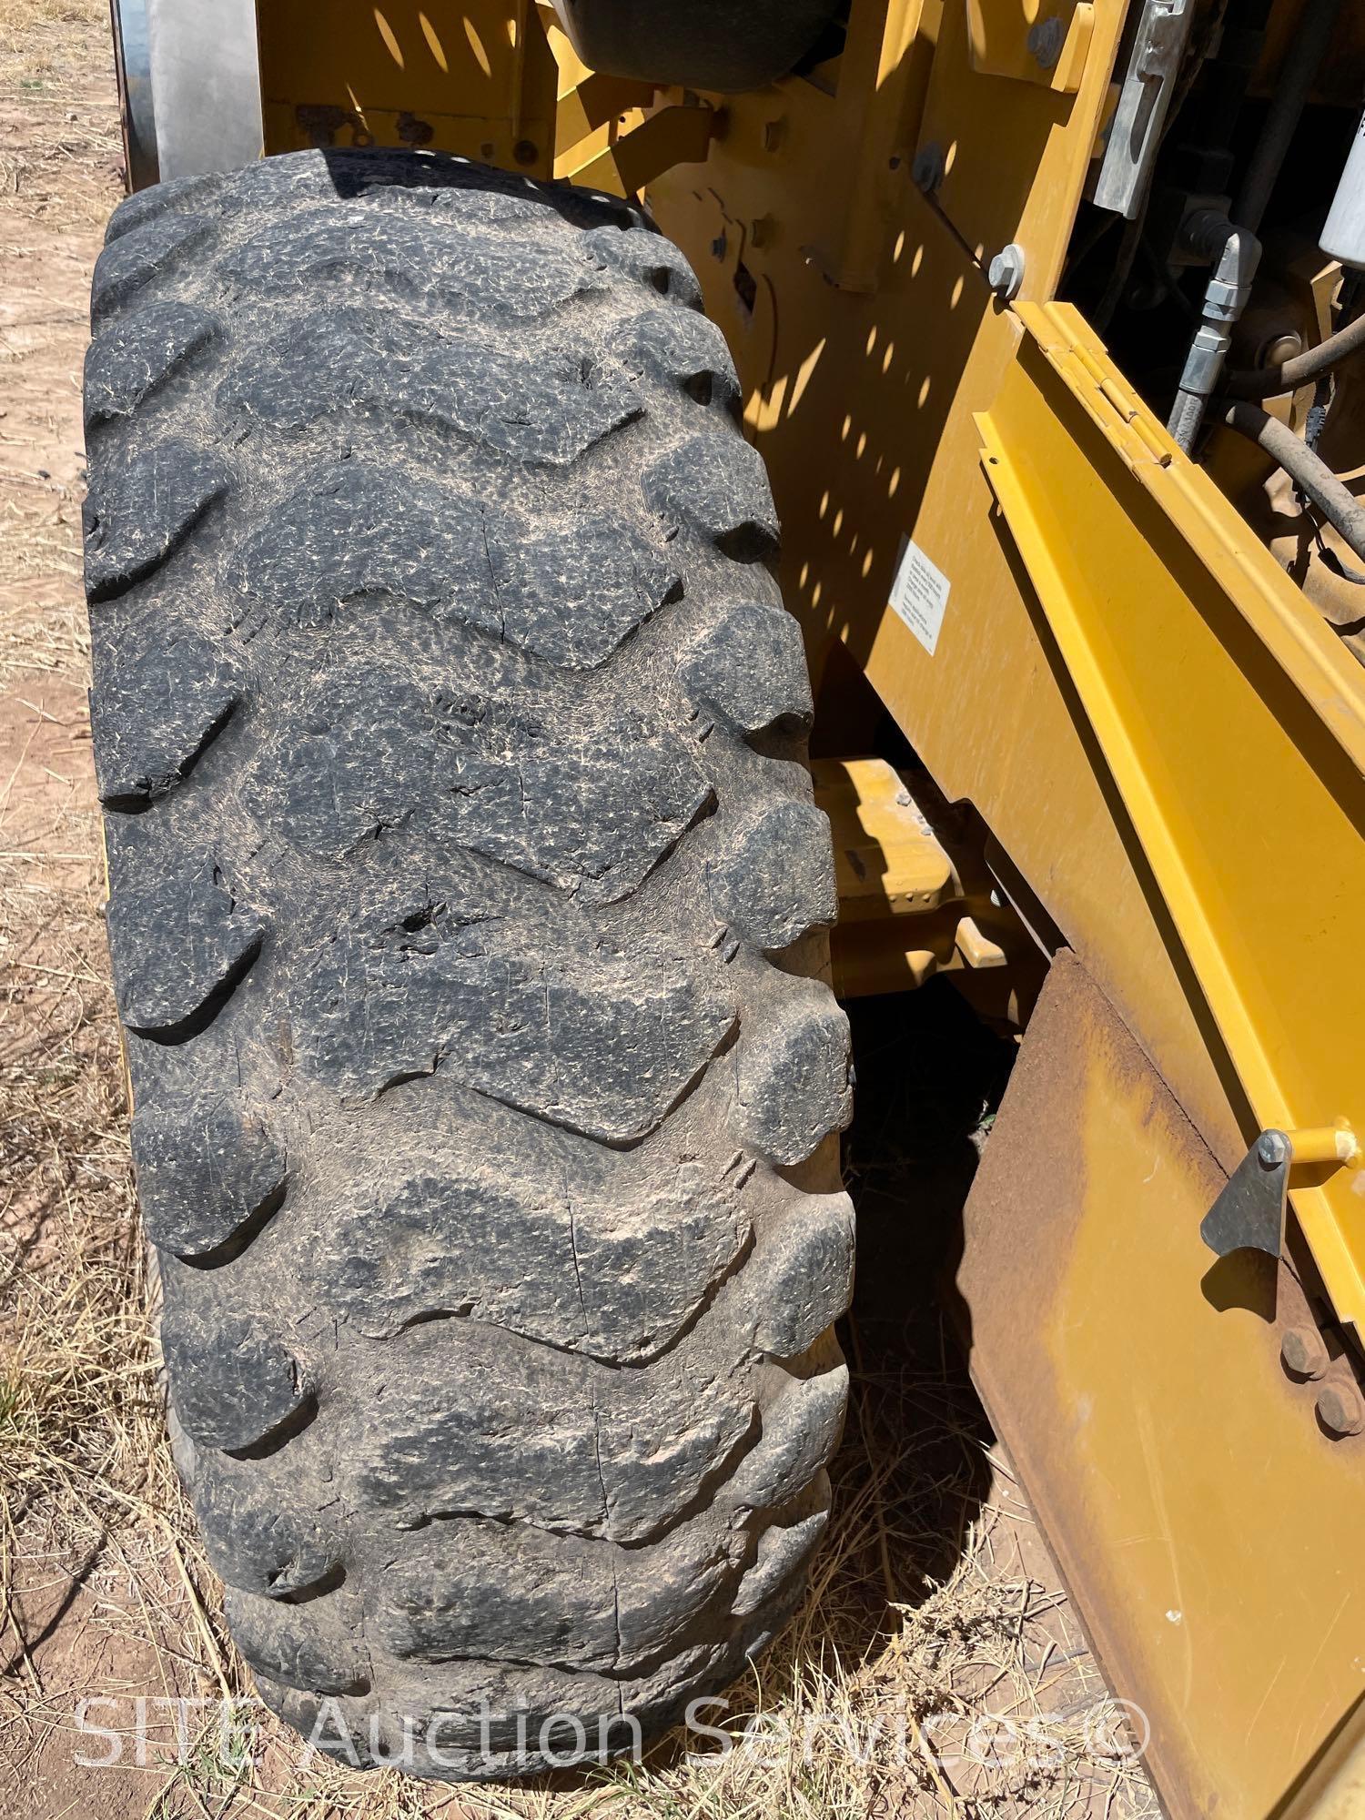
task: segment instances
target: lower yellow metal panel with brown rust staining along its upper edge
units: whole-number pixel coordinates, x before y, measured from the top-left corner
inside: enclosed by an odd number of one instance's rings
[[[1061,956],[966,1205],[972,1370],[1168,1811],[1263,1820],[1365,1685],[1365,1438],[1283,1370],[1270,1259],[1203,1249],[1221,1185]]]

